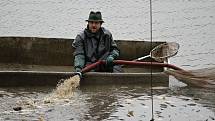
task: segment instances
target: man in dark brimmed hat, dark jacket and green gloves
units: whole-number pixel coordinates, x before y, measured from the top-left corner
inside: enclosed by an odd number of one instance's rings
[[[74,51],[74,68],[80,72],[85,66],[98,60],[105,60],[105,65],[100,65],[93,71],[120,72],[119,65],[113,65],[113,61],[119,57],[119,49],[112,38],[110,31],[101,27],[101,12],[91,11],[89,14],[87,28],[79,33],[72,46]]]

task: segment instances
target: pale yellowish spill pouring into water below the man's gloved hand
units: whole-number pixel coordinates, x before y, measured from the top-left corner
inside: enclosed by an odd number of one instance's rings
[[[36,109],[43,106],[50,106],[58,103],[69,103],[74,95],[75,89],[80,85],[80,77],[75,75],[64,80],[62,83],[58,83],[55,90],[53,90],[48,96],[42,100],[22,98],[17,101],[18,107],[22,109]]]

